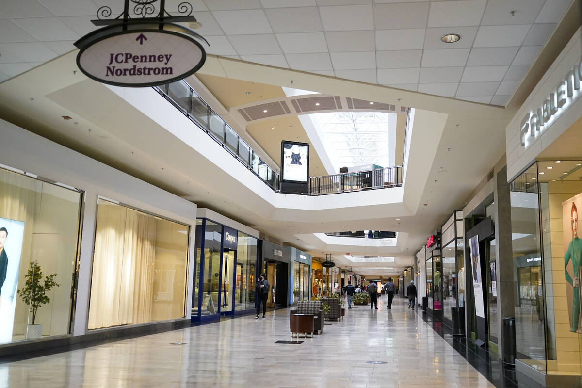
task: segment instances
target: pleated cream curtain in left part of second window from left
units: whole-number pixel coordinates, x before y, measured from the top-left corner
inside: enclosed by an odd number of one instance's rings
[[[155,237],[154,217],[100,201],[89,329],[151,321]]]

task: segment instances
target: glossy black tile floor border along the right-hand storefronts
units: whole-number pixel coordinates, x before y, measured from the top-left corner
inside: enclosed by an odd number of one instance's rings
[[[423,319],[439,334],[450,346],[453,347],[473,365],[481,375],[485,376],[489,382],[497,388],[517,388],[517,376],[512,365],[503,364],[501,359],[489,352],[486,348],[481,348],[467,337],[453,336],[453,331],[442,322],[434,321],[432,316],[423,314]]]

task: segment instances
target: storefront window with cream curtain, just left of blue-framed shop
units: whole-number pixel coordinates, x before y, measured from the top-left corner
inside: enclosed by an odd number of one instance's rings
[[[89,329],[184,317],[190,227],[98,200]]]

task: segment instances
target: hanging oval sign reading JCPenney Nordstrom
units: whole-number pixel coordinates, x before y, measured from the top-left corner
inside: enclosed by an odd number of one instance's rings
[[[181,80],[204,65],[206,52],[193,38],[165,30],[115,33],[77,55],[87,77],[104,84],[158,86]]]

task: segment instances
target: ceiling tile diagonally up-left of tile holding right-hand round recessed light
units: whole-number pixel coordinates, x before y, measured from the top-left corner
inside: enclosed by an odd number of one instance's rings
[[[424,28],[427,25],[428,2],[378,4],[374,6],[374,28],[377,30]]]

